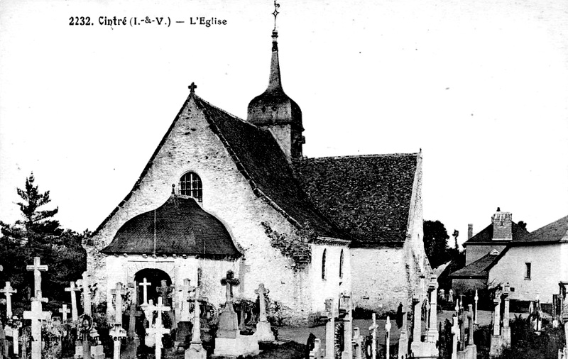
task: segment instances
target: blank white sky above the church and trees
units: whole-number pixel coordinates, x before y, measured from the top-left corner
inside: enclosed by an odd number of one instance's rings
[[[567,1],[279,4],[280,70],[302,109],[304,155],[421,149],[424,218],[457,229],[460,242],[498,206],[529,231],[568,214]],[[268,84],[273,9],[271,0],[1,1],[0,220],[19,218],[16,187],[33,172],[63,226],[97,228],[191,82],[246,118]],[[93,25],[70,25],[81,16]],[[126,25],[104,24],[114,16]]]

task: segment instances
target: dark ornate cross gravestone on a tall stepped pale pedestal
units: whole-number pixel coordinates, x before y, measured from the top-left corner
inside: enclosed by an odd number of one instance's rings
[[[240,281],[234,277],[234,272],[229,270],[226,277],[222,278],[221,284],[226,286],[226,302],[221,314],[219,314],[219,329],[215,338],[214,355],[256,355],[258,340],[255,335],[243,336],[239,332],[239,322],[233,308],[233,286],[239,285]]]

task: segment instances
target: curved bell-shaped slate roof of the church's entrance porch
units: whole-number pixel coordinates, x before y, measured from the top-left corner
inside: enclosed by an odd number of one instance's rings
[[[126,221],[102,253],[187,254],[204,257],[241,255],[219,219],[192,198],[170,196],[157,209]]]

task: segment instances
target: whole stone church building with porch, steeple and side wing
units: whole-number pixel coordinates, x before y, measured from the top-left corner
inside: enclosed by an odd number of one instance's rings
[[[133,188],[87,245],[97,300],[111,302],[116,282],[144,278],[150,298],[162,280],[176,297],[187,278],[217,306],[219,281],[233,270],[235,297],[254,300],[262,282],[289,324],[306,324],[342,292],[381,312],[422,290],[419,277],[430,273],[422,153],[305,158],[310,120],[283,91],[277,38],[273,31],[268,88],[251,100],[246,121],[190,86]]]

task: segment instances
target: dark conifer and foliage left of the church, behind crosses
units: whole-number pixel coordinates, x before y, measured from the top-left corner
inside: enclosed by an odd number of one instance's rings
[[[42,294],[50,299],[47,308],[53,310],[67,301],[64,288],[70,281],[80,279],[87,267],[87,253],[81,243],[89,232],[62,228],[53,219],[58,207],[40,208],[50,203],[49,191],[38,190],[33,173],[26,178],[25,189],[16,190],[22,199],[17,203],[22,219],[13,224],[0,221],[0,263],[4,266],[0,283],[10,281],[18,289],[12,297],[14,314],[28,310],[29,299],[33,297],[33,273],[26,270],[26,265],[32,264],[34,257],[40,257],[41,263],[49,267],[48,272],[42,273]]]

